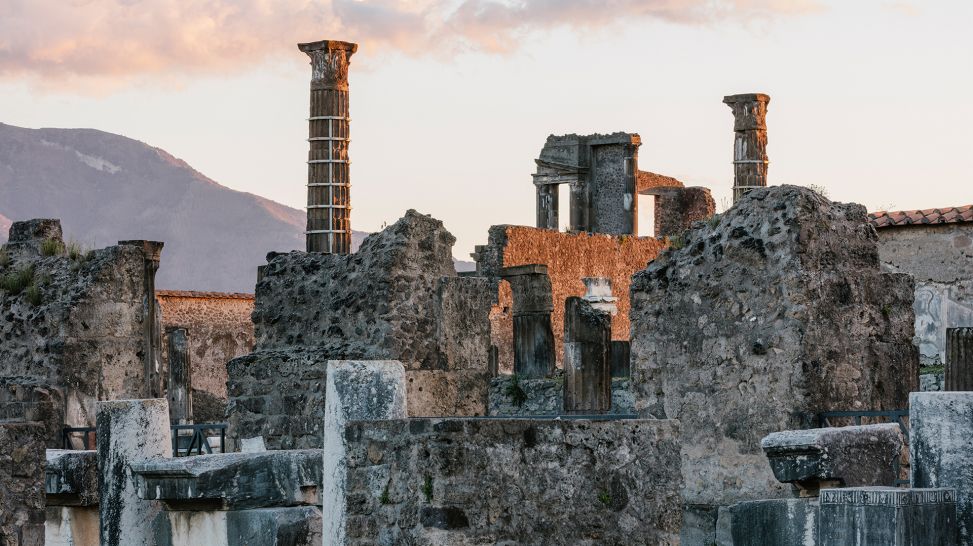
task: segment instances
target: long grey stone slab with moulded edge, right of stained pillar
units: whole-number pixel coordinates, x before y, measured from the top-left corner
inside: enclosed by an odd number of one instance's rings
[[[321,450],[221,453],[131,464],[139,498],[169,510],[243,510],[320,503]]]

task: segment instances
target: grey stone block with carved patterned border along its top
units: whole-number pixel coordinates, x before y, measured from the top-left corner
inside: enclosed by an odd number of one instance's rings
[[[823,489],[820,546],[954,546],[956,491]]]

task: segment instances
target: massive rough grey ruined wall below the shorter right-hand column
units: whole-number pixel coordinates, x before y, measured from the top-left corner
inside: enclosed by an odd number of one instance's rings
[[[762,437],[907,407],[913,289],[881,272],[863,207],[795,186],[751,191],[636,274],[636,405],[681,420],[686,502],[781,496]]]

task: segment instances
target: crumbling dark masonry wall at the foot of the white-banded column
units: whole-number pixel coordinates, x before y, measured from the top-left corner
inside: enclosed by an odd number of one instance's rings
[[[328,360],[398,360],[410,415],[485,415],[496,283],[458,277],[453,236],[410,210],[355,254],[271,255],[256,349],[227,367],[231,438],[316,448]]]

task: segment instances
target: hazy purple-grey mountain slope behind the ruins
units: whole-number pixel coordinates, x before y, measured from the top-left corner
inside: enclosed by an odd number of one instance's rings
[[[252,292],[267,252],[304,248],[303,211],[221,186],[164,150],[0,123],[2,238],[29,218],[60,218],[65,238],[88,247],[164,241],[156,284],[168,289]],[[353,234],[355,248],[365,235]]]

